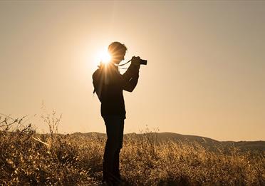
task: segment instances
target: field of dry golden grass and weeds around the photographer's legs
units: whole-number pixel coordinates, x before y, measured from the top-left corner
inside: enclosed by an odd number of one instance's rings
[[[100,185],[105,137],[38,134],[0,118],[0,185]],[[19,126],[19,127],[14,127]],[[264,151],[208,150],[200,143],[127,135],[120,155],[123,185],[265,185]]]

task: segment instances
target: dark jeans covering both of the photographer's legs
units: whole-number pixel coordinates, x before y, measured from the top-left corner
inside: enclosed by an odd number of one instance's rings
[[[105,117],[107,141],[103,157],[103,180],[120,180],[120,149],[123,148],[124,118]]]

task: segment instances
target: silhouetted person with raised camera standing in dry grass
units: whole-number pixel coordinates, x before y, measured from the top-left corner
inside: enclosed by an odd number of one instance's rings
[[[100,113],[107,133],[103,155],[103,182],[120,183],[119,155],[123,148],[123,128],[126,118],[123,91],[132,92],[139,78],[140,57],[133,57],[125,73],[120,74],[118,64],[124,60],[127,47],[120,42],[110,43],[111,61],[100,63],[93,73],[94,92],[101,102]]]

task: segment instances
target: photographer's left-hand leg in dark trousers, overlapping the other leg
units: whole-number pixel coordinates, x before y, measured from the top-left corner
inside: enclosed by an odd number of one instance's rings
[[[104,120],[107,132],[107,141],[103,156],[103,180],[115,180],[113,167],[115,162],[115,153],[119,149],[120,145],[120,122],[117,120],[117,117],[104,118]]]

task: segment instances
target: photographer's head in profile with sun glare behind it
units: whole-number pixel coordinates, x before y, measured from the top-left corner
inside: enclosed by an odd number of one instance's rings
[[[115,64],[119,64],[120,61],[124,60],[126,51],[127,47],[125,46],[125,44],[122,44],[118,41],[110,43],[110,45],[108,46],[108,52],[110,53],[110,56],[112,58],[111,61]]]

